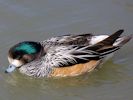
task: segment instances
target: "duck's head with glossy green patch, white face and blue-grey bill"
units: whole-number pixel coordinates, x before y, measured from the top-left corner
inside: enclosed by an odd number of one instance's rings
[[[39,59],[43,55],[43,47],[39,42],[25,41],[14,45],[8,53],[9,67],[6,73],[20,68],[26,63]]]

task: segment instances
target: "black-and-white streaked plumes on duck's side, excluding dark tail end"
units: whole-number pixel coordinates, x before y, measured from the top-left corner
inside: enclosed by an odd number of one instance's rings
[[[51,67],[66,67],[99,59],[99,53],[84,46],[56,46],[47,51],[45,63]]]

